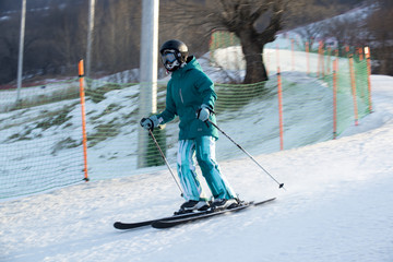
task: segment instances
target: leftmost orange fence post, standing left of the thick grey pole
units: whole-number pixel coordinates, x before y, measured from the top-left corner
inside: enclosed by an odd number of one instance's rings
[[[87,135],[86,135],[83,60],[81,60],[79,62],[79,80],[80,80],[80,96],[81,96],[81,110],[82,110],[82,136],[83,136],[83,162],[84,162],[84,179],[83,180],[88,181],[88,176],[87,176]]]

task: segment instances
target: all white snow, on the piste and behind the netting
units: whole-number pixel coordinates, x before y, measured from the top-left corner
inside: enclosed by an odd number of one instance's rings
[[[278,58],[276,46],[288,50],[281,50]],[[239,48],[230,51],[239,53]],[[227,56],[219,52],[221,50],[216,51],[215,56]],[[241,199],[259,201],[276,196],[274,202],[166,230],[150,227],[116,230],[112,227],[116,221],[138,222],[168,216],[183,201],[165,166],[143,169],[144,174],[130,176],[135,155],[130,155],[129,148],[135,147],[136,127],[128,124],[120,127],[121,135],[110,139],[114,141],[97,144],[90,152],[92,181],[0,202],[0,261],[393,261],[393,78],[372,75],[373,112],[362,118],[359,126],[346,129],[338,139],[329,140],[332,130],[331,127],[325,127],[326,112],[323,110],[327,106],[322,104],[331,100],[331,93],[323,88],[323,83],[305,76],[305,53],[295,52],[297,63],[293,68],[288,38],[281,36],[266,46],[264,55],[271,74],[274,74],[279,64],[284,76],[305,88],[297,88],[297,92],[310,95],[308,106],[319,110],[314,111],[317,117],[305,112],[300,114],[303,116],[300,119],[298,116],[286,115],[286,151],[281,152],[277,152],[276,135],[271,140],[258,140],[252,136],[252,129],[243,128],[251,122],[264,127],[266,133],[276,132],[269,128],[271,118],[277,118],[270,102],[264,107],[250,104],[241,112],[221,115],[218,123],[272,176],[284,182],[286,190],[278,189],[263,170],[224,135],[217,142],[217,154],[225,156],[219,160],[221,168]],[[229,58],[238,59],[237,56]],[[315,56],[310,53],[310,59],[311,64],[317,64]],[[200,62],[203,64],[206,61]],[[228,75],[233,79],[242,78],[243,71],[239,70],[243,66],[230,68],[231,64],[239,63],[236,60],[221,64],[226,69],[226,74],[214,69],[207,73],[215,81]],[[130,82],[134,73],[120,73],[108,80]],[[69,85],[61,84],[26,88],[22,97],[33,100],[36,97],[50,98],[56,93],[67,92],[67,86]],[[71,88],[78,91],[78,84]],[[117,108],[116,116],[127,116],[135,109],[134,97],[138,92],[138,86],[112,91],[98,104],[87,99],[87,115],[97,119],[102,116],[98,123],[106,123],[115,118],[115,114],[103,112],[109,105],[118,104],[121,107]],[[0,110],[7,111],[12,107],[14,97],[15,91],[2,92]],[[158,98],[162,99],[163,95]],[[298,103],[296,98],[285,97],[285,100],[288,103],[285,104],[287,108]],[[35,141],[28,146],[24,146],[27,142],[16,144],[21,155],[4,152],[7,155],[0,160],[17,164],[21,159],[34,163],[37,158],[48,158],[47,167],[57,168],[57,162],[41,152],[53,152],[53,141],[61,138],[70,138],[76,142],[80,140],[80,130],[74,128],[78,127],[80,108],[74,104],[72,100],[60,102],[56,106],[50,104],[36,107],[35,110],[1,114],[0,122],[8,124],[7,120],[11,119],[13,127],[8,129],[10,133],[1,133],[0,143],[24,130],[32,130],[28,138]],[[71,116],[71,126],[70,122],[64,122],[47,130],[31,128],[36,126],[34,121],[40,114],[66,107],[71,110],[68,115]],[[255,111],[261,114],[257,115]],[[237,114],[248,118],[237,119],[234,123],[230,119],[236,119]],[[291,119],[296,121],[290,122]],[[132,123],[135,119],[129,121]],[[308,133],[311,129],[309,123],[315,128],[311,133]],[[88,127],[87,131],[93,132],[93,126]],[[176,143],[176,129],[170,124],[167,129],[170,130],[167,133],[168,143]],[[62,136],[64,134],[67,136]],[[39,135],[44,135],[46,140]],[[250,136],[250,140],[242,140]],[[32,150],[37,147],[37,141],[40,143],[40,148],[37,150],[41,150],[38,152],[43,155]],[[306,145],[310,143],[313,144]],[[123,147],[119,147],[119,144]],[[59,148],[55,152],[57,158],[67,157],[68,151]],[[169,159],[174,159],[175,151],[174,146],[168,150]],[[111,157],[114,154],[117,154],[116,158]],[[116,179],[99,180],[106,178],[105,168],[109,158],[115,158],[110,159],[111,163],[120,163],[123,170],[118,170]],[[64,165],[81,169],[81,164],[78,163],[67,162]],[[24,164],[11,166],[21,170],[31,168]],[[2,168],[0,165],[0,169]],[[32,170],[32,174],[35,171]],[[28,177],[29,174],[26,179]]]

